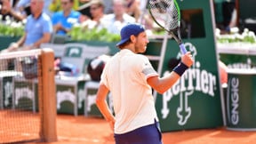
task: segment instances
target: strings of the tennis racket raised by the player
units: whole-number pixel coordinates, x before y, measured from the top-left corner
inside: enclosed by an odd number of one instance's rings
[[[158,24],[168,31],[179,27],[179,12],[173,0],[150,0],[149,11]]]

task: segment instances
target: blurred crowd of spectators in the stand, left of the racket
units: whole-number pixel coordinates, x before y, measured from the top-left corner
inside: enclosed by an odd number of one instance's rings
[[[146,17],[146,3],[147,0],[0,0],[2,20],[26,20],[24,36],[2,52],[38,48],[49,43],[52,35],[66,36],[76,24],[93,23],[118,34],[127,23],[151,21]],[[88,5],[85,9],[89,12],[81,9],[84,5]],[[143,24],[152,27],[152,22]]]

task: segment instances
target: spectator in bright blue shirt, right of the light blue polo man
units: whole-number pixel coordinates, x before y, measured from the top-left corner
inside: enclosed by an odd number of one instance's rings
[[[62,11],[52,14],[54,34],[65,36],[74,24],[80,23],[82,14],[73,10],[74,0],[60,0]]]

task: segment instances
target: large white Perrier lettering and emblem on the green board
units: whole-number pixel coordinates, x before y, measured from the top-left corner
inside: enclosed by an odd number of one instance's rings
[[[161,109],[162,118],[165,119],[170,113],[168,102],[172,100],[173,96],[180,96],[180,106],[176,110],[176,115],[179,118],[178,124],[180,125],[186,124],[192,113],[192,109],[189,107],[188,96],[192,96],[196,91],[214,97],[217,83],[217,76],[207,72],[206,69],[202,69],[201,62],[196,61],[196,47],[190,43],[186,43],[185,46],[192,53],[195,63],[180,77],[180,80],[171,89],[164,92],[163,108]],[[177,58],[179,57],[180,53],[177,55]],[[168,74],[170,74],[170,71],[164,72],[164,76]]]

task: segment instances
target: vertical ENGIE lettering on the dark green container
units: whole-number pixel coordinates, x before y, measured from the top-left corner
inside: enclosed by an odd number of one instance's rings
[[[232,77],[228,81],[227,113],[228,113],[228,122],[231,122],[231,124],[234,124],[234,125],[238,124],[239,122],[239,113],[237,110],[238,107],[239,107],[239,79],[236,77]],[[231,109],[231,112],[229,109]]]

